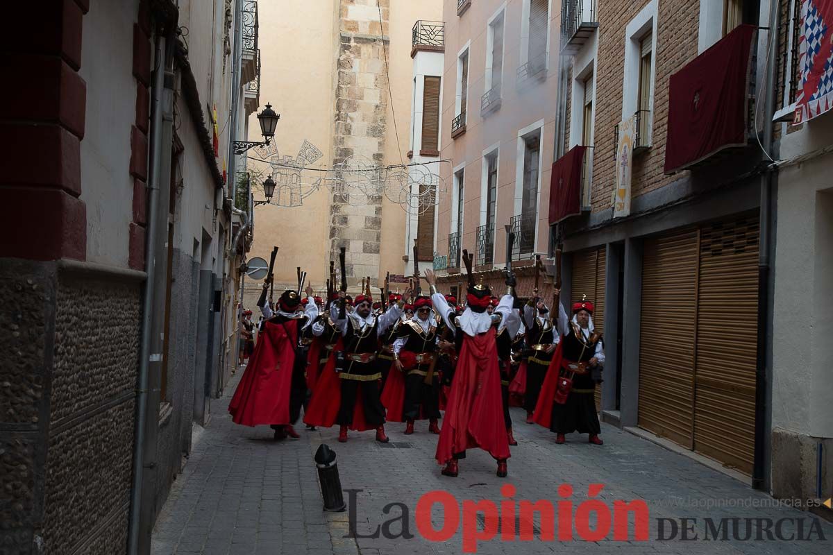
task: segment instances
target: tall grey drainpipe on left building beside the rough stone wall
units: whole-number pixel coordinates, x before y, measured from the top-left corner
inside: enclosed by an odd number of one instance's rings
[[[130,513],[129,513],[129,531],[127,536],[127,553],[129,555],[138,555],[138,553],[148,552],[150,548],[150,533],[147,532],[147,538],[143,537],[142,526],[147,524],[147,506],[142,506],[143,497],[147,500],[147,496],[143,496],[144,490],[152,488],[152,483],[145,483],[146,470],[151,470],[153,463],[149,463],[146,468],[147,458],[147,440],[148,440],[148,404],[151,402],[152,388],[151,384],[151,366],[152,364],[161,364],[159,355],[152,354],[156,351],[156,346],[160,343],[154,337],[154,323],[161,320],[160,315],[157,314],[157,295],[154,295],[157,289],[157,281],[162,277],[165,279],[165,261],[166,257],[162,254],[159,246],[163,244],[160,237],[164,235],[167,238],[167,225],[162,226],[163,221],[167,221],[167,202],[161,198],[162,193],[162,176],[161,167],[165,164],[164,157],[169,156],[170,147],[163,148],[164,127],[164,112],[166,101],[170,101],[170,95],[166,96],[165,92],[165,76],[167,67],[167,45],[170,39],[157,33],[156,47],[154,52],[154,61],[157,64],[157,70],[153,74],[152,97],[151,97],[151,153],[148,161],[149,180],[147,186],[147,240],[145,251],[145,271],[147,273],[147,280],[145,280],[144,291],[142,294],[142,330],[141,330],[141,344],[139,348],[139,367],[137,375],[137,392],[136,392],[136,424],[135,424],[135,438],[133,446],[133,475],[130,491]],[[170,41],[171,44],[173,43]],[[159,263],[161,262],[162,265]],[[152,503],[150,503],[152,505]],[[147,526],[145,526],[147,528]]]

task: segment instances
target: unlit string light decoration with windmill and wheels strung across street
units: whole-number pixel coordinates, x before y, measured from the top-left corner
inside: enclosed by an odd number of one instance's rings
[[[433,210],[446,195],[446,183],[427,164],[382,166],[367,156],[353,155],[329,168],[311,167],[324,155],[304,141],[297,156],[281,156],[274,144],[258,146],[256,160],[269,165],[275,181],[272,206],[302,206],[322,187],[349,206],[377,205],[384,195],[409,215]],[[429,162],[436,164],[437,161]]]

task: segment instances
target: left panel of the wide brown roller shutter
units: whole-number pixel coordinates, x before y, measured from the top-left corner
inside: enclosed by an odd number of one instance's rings
[[[639,357],[641,428],[694,441],[698,231],[645,241]]]

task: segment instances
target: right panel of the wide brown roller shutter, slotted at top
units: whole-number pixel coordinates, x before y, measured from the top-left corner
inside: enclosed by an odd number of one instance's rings
[[[755,450],[757,217],[704,227],[697,293],[694,449],[751,474]]]

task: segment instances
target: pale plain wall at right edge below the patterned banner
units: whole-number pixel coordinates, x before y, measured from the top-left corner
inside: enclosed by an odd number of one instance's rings
[[[784,126],[786,129],[786,126]],[[833,144],[833,114],[783,134],[791,161]],[[778,176],[772,426],[833,438],[833,155]]]

